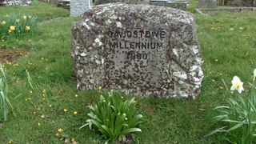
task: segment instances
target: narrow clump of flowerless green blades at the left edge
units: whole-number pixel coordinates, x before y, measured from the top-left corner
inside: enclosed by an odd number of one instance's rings
[[[11,108],[13,108],[13,106],[11,106],[9,98],[7,97],[8,94],[8,86],[7,86],[7,82],[6,82],[6,74],[3,70],[3,66],[0,63],[0,71],[2,74],[0,74],[0,106],[1,106],[1,112],[2,112],[2,119],[3,121],[7,120],[7,109],[6,106],[10,105]]]

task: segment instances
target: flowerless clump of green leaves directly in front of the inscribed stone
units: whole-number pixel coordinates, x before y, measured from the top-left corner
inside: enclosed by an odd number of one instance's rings
[[[103,137],[111,142],[122,141],[133,132],[141,132],[138,124],[142,122],[142,114],[136,114],[134,98],[126,101],[121,96],[113,95],[111,91],[106,96],[101,96],[100,101],[89,106],[89,119],[84,126],[92,126],[102,133]],[[81,127],[81,128],[82,128]]]

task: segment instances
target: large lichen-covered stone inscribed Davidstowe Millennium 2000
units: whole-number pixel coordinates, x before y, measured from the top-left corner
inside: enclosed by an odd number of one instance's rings
[[[202,54],[192,14],[152,5],[94,6],[72,26],[78,90],[195,98]]]

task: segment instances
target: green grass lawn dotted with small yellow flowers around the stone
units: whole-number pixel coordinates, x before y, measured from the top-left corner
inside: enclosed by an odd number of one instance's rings
[[[68,10],[36,1],[29,7],[1,7],[0,13],[15,10],[37,14],[39,33],[0,42],[2,49],[29,50],[25,57],[5,64],[16,116],[9,110],[8,120],[0,122],[0,143],[64,143],[68,138],[78,143],[101,142],[95,131],[78,129],[88,118],[86,106],[106,93],[76,90],[70,57],[70,27],[76,19],[70,18]],[[226,134],[203,136],[222,126],[209,125],[210,110],[225,104],[224,99],[229,97],[222,79],[230,87],[233,76],[238,75],[245,82],[245,90],[249,88],[247,82],[252,81],[256,68],[255,13],[195,17],[205,60],[202,93],[195,100],[136,98],[138,113],[145,118],[140,125],[142,133],[136,134],[141,143],[227,143]]]

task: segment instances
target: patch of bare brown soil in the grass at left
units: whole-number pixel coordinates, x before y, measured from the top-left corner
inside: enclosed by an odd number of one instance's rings
[[[0,48],[0,62],[13,62],[28,54],[28,50],[9,50]]]

